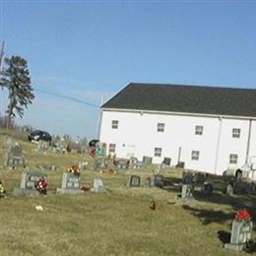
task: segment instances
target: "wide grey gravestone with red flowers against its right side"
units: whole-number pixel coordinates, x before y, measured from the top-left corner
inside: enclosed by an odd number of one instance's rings
[[[47,175],[42,173],[22,173],[20,188],[15,188],[13,195],[39,195],[39,192],[35,189],[35,184],[41,177],[47,177]]]

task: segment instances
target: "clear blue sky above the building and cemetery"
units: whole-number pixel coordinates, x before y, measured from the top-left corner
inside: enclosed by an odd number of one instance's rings
[[[52,134],[95,137],[87,102],[130,82],[256,89],[256,1],[0,0],[2,39],[36,96],[18,123]]]

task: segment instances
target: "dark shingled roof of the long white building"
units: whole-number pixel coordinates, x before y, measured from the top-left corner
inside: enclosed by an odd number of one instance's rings
[[[256,117],[256,90],[131,83],[101,108]]]

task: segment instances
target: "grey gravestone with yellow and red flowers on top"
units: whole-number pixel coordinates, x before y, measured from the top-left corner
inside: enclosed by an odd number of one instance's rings
[[[57,188],[59,194],[80,194],[80,175],[72,172],[64,172],[62,174],[61,188]]]

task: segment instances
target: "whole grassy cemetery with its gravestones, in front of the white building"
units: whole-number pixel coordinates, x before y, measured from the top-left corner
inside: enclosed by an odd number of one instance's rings
[[[1,228],[3,255],[256,253],[249,180],[192,172],[170,159],[152,164],[147,156],[118,166],[103,156],[102,145],[93,157],[39,150],[22,138],[0,132],[0,216],[8,220]],[[26,164],[8,166],[16,143]]]

